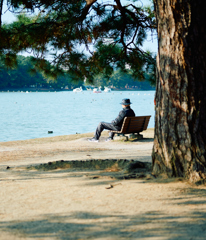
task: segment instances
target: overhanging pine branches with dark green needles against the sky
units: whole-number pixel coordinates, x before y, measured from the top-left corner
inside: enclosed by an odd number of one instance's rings
[[[32,51],[31,71],[41,70],[50,78],[66,71],[74,81],[93,82],[99,73],[109,79],[114,70],[126,73],[129,69],[134,79],[143,79],[147,72],[154,81],[155,58],[141,50],[156,27],[151,7],[140,8],[133,1],[123,5],[117,0],[7,3],[18,16],[0,28],[0,55],[6,56],[7,66],[14,65],[17,53]]]

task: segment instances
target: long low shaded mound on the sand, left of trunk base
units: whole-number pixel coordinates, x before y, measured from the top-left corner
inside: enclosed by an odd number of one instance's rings
[[[14,167],[1,169],[4,174],[11,174],[13,180],[29,179],[60,179],[86,176],[89,179],[154,179],[152,165],[149,162],[140,162],[127,159],[96,159],[85,161],[54,161],[28,167]],[[3,175],[2,175],[3,176]],[[1,178],[4,181],[4,178]],[[92,183],[91,183],[92,184]]]

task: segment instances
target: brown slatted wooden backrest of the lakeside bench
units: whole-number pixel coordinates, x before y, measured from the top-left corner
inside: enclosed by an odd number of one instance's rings
[[[121,133],[139,133],[147,129],[151,116],[125,117]]]

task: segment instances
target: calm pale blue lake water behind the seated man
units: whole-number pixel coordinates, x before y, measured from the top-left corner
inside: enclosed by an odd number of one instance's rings
[[[111,122],[130,98],[136,116],[151,115],[154,91],[93,93],[0,92],[0,142],[94,132],[100,121]],[[53,134],[48,134],[53,131]]]

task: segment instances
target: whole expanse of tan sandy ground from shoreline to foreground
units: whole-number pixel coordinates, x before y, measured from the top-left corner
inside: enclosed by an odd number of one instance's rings
[[[87,141],[92,134],[0,143],[0,239],[206,239],[205,186],[150,172],[126,180],[118,168],[31,168],[151,162],[153,134],[133,142],[104,142],[105,133],[99,143]]]

